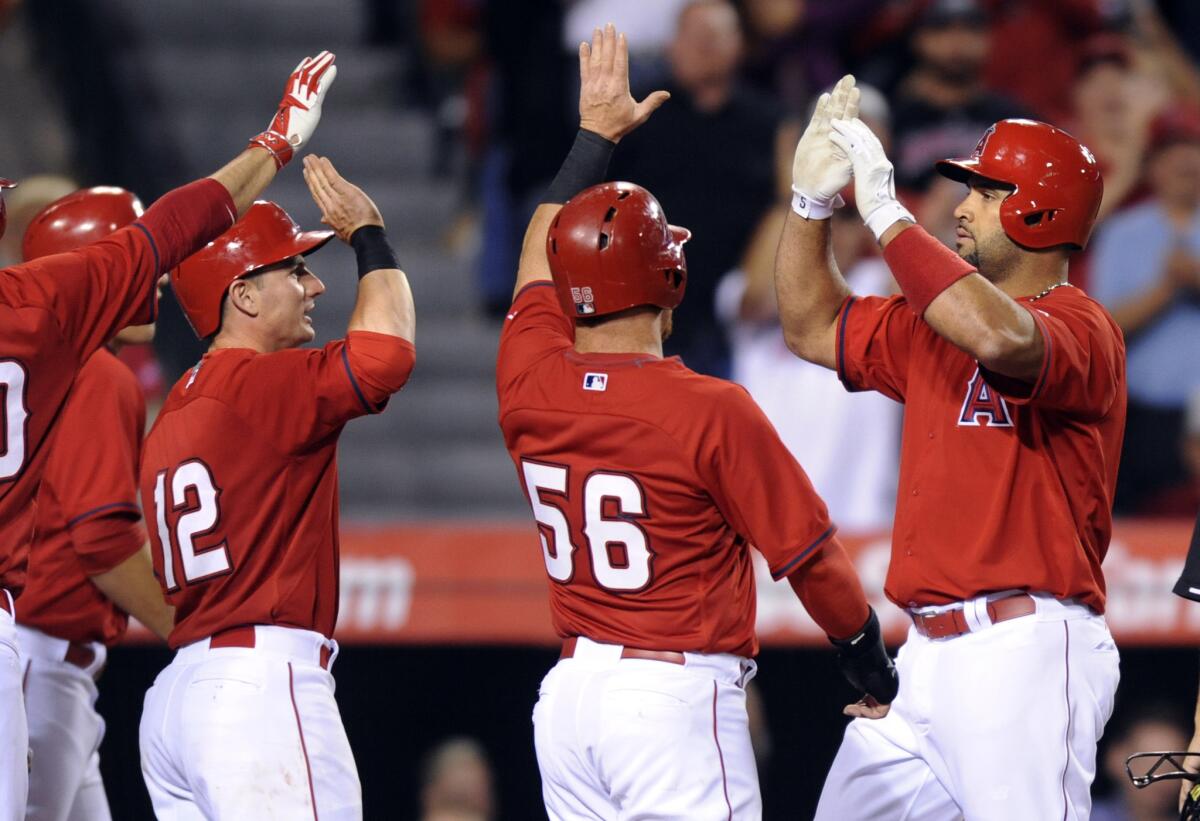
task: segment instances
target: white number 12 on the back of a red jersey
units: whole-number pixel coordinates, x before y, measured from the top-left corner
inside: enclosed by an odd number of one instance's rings
[[[170,480],[168,481],[168,477]],[[182,511],[175,519],[175,526],[167,523],[168,499],[170,493],[170,513]],[[192,501],[188,501],[188,491]],[[162,543],[162,582],[168,593],[179,589],[175,576],[175,558],[172,547],[179,546],[180,575],[185,583],[194,585],[215,576],[222,576],[233,569],[229,562],[229,547],[222,539],[211,547],[197,550],[196,539],[212,533],[221,522],[221,489],[212,480],[209,466],[198,459],[181,463],[174,471],[160,471],[154,481],[154,510],[158,526],[158,541]]]

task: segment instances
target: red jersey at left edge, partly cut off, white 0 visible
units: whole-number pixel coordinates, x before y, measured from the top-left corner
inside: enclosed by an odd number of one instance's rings
[[[200,180],[98,242],[0,270],[0,587],[13,595],[25,585],[47,439],[76,373],[121,328],[152,322],[158,275],[234,216],[229,192]]]

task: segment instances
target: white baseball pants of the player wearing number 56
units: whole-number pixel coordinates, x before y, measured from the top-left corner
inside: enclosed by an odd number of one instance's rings
[[[541,683],[534,744],[551,820],[761,819],[743,689],[754,661],[620,651],[578,639]]]

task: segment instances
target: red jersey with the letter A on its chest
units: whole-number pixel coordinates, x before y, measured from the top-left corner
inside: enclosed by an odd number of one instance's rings
[[[901,607],[1024,589],[1104,611],[1124,341],[1078,288],[1019,304],[1045,340],[1032,385],[982,370],[902,296],[841,308],[841,380],[906,406],[886,585]]]

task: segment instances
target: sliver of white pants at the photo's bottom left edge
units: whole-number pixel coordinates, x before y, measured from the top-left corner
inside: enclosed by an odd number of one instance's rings
[[[12,597],[0,589],[0,821],[25,817],[29,796],[29,724],[20,689],[22,661]]]

